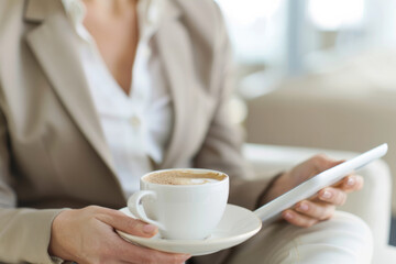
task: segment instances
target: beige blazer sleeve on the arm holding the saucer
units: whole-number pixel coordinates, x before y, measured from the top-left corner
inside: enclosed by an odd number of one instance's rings
[[[62,210],[16,208],[7,131],[0,111],[0,263],[54,263],[47,248],[52,221]]]

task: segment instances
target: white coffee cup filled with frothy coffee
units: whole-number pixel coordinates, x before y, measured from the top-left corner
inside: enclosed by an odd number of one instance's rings
[[[191,175],[191,178],[164,184],[163,179],[169,175],[170,179],[172,175]],[[129,210],[157,226],[161,237],[169,240],[208,238],[223,216],[229,195],[228,175],[211,169],[156,170],[144,175],[140,184],[141,190],[128,200]]]

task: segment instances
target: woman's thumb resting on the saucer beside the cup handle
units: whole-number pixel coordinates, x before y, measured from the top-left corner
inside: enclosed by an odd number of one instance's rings
[[[125,216],[123,212],[111,209],[102,209],[97,219],[122,232],[151,238],[158,232],[157,227],[147,224],[141,220]]]

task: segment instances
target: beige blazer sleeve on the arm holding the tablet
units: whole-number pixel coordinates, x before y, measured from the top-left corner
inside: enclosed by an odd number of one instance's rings
[[[218,6],[217,33],[213,54],[213,76],[217,108],[205,142],[195,157],[195,166],[218,169],[230,176],[229,202],[253,210],[268,179],[252,179],[252,169],[244,161],[241,146],[242,129],[230,121],[229,98],[233,92],[232,51],[226,25]]]

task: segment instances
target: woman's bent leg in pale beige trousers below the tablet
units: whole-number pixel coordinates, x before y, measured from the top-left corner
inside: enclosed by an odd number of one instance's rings
[[[231,254],[199,256],[191,264],[370,264],[372,233],[355,216],[338,211],[309,229],[276,222],[262,229]]]

